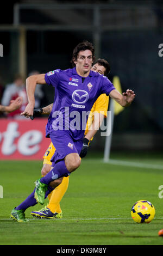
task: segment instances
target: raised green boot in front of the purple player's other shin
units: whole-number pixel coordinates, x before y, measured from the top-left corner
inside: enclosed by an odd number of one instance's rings
[[[40,178],[41,179],[41,178]],[[43,204],[45,199],[45,193],[47,191],[48,185],[43,184],[40,179],[35,181],[35,199],[37,203]]]

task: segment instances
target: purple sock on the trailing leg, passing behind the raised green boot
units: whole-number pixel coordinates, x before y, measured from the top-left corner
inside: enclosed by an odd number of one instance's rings
[[[53,187],[48,186],[48,189],[45,194],[45,198],[47,198],[48,194],[51,193],[54,190]],[[20,204],[18,205],[15,210],[24,210],[26,211],[27,208],[30,206],[34,206],[37,204],[36,199],[34,198],[35,189],[34,191]]]

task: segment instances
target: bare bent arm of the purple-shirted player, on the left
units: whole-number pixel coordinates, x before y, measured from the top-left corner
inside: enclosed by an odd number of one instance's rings
[[[26,117],[30,117],[31,115],[33,115],[33,109],[35,106],[34,93],[36,84],[46,84],[45,74],[29,76],[26,79],[28,105],[26,106],[26,109],[21,113],[21,115],[26,115]]]

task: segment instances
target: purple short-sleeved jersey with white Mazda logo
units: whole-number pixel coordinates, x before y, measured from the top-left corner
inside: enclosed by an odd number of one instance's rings
[[[46,137],[51,132],[66,130],[75,141],[83,138],[87,118],[98,96],[109,95],[115,89],[107,77],[92,70],[89,76],[82,77],[76,68],[47,72],[45,81],[55,87]]]

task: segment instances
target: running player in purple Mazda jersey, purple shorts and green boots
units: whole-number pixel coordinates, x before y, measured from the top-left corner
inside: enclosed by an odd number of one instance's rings
[[[60,178],[70,175],[80,166],[79,155],[83,147],[87,117],[98,96],[105,93],[123,107],[129,106],[134,100],[135,94],[132,90],[128,89],[121,94],[108,78],[91,70],[94,59],[93,45],[84,41],[74,48],[74,68],[57,69],[30,76],[26,80],[29,103],[22,112],[26,117],[33,115],[36,84],[47,83],[55,87],[54,104],[46,125],[46,137],[51,138],[56,150],[51,159],[51,171],[36,180],[33,193],[11,211],[11,217],[18,222],[28,221],[24,211],[36,203],[43,204],[47,195],[61,183]],[[78,115],[76,128],[73,123],[74,113]]]

